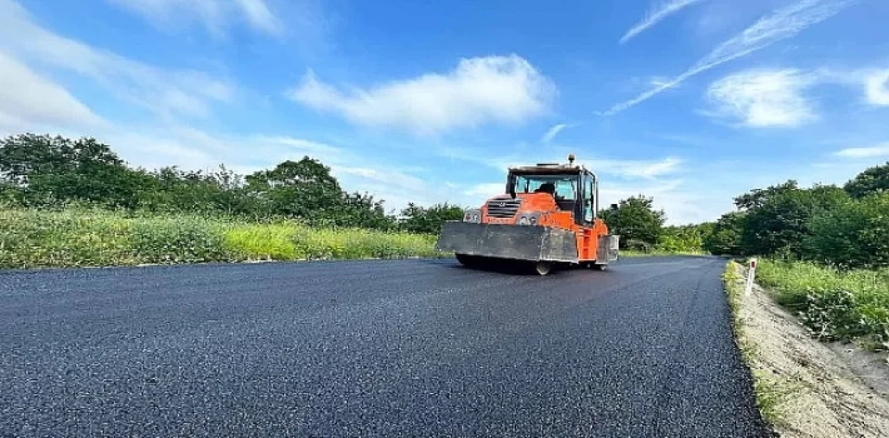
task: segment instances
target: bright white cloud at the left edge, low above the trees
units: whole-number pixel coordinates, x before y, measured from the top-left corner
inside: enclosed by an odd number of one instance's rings
[[[0,52],[0,127],[4,130],[102,123],[100,116],[65,88]]]

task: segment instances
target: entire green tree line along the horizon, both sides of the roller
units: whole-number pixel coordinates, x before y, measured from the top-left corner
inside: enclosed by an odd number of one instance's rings
[[[302,157],[239,175],[217,171],[131,168],[92,138],[25,133],[0,140],[0,203],[45,207],[89,203],[150,213],[299,219],[313,226],[364,227],[437,234],[463,207],[409,203],[387,212],[372,195],[340,187],[331,169]],[[799,187],[797,181],[734,198],[736,211],[715,222],[666,226],[667,215],[644,195],[599,211],[621,248],[707,251],[721,255],[813,259],[842,267],[889,266],[889,163],[844,186]]]

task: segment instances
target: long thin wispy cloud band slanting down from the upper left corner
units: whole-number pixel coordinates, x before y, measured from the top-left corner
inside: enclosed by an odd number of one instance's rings
[[[235,93],[227,82],[202,72],[155,68],[55,35],[12,0],[0,0],[0,51],[28,65],[88,77],[118,99],[158,115],[206,116],[212,104],[228,102]]]

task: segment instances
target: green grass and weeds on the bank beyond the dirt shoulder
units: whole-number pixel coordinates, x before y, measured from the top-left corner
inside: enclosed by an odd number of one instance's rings
[[[840,271],[807,262],[763,259],[757,283],[795,312],[815,338],[889,347],[889,269]]]

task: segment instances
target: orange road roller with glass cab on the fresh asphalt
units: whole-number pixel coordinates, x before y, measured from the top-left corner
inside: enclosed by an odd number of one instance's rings
[[[540,275],[557,264],[601,269],[617,259],[619,237],[597,217],[598,191],[596,174],[573,155],[568,163],[509,168],[504,193],[445,222],[436,250],[467,266],[528,262]]]

